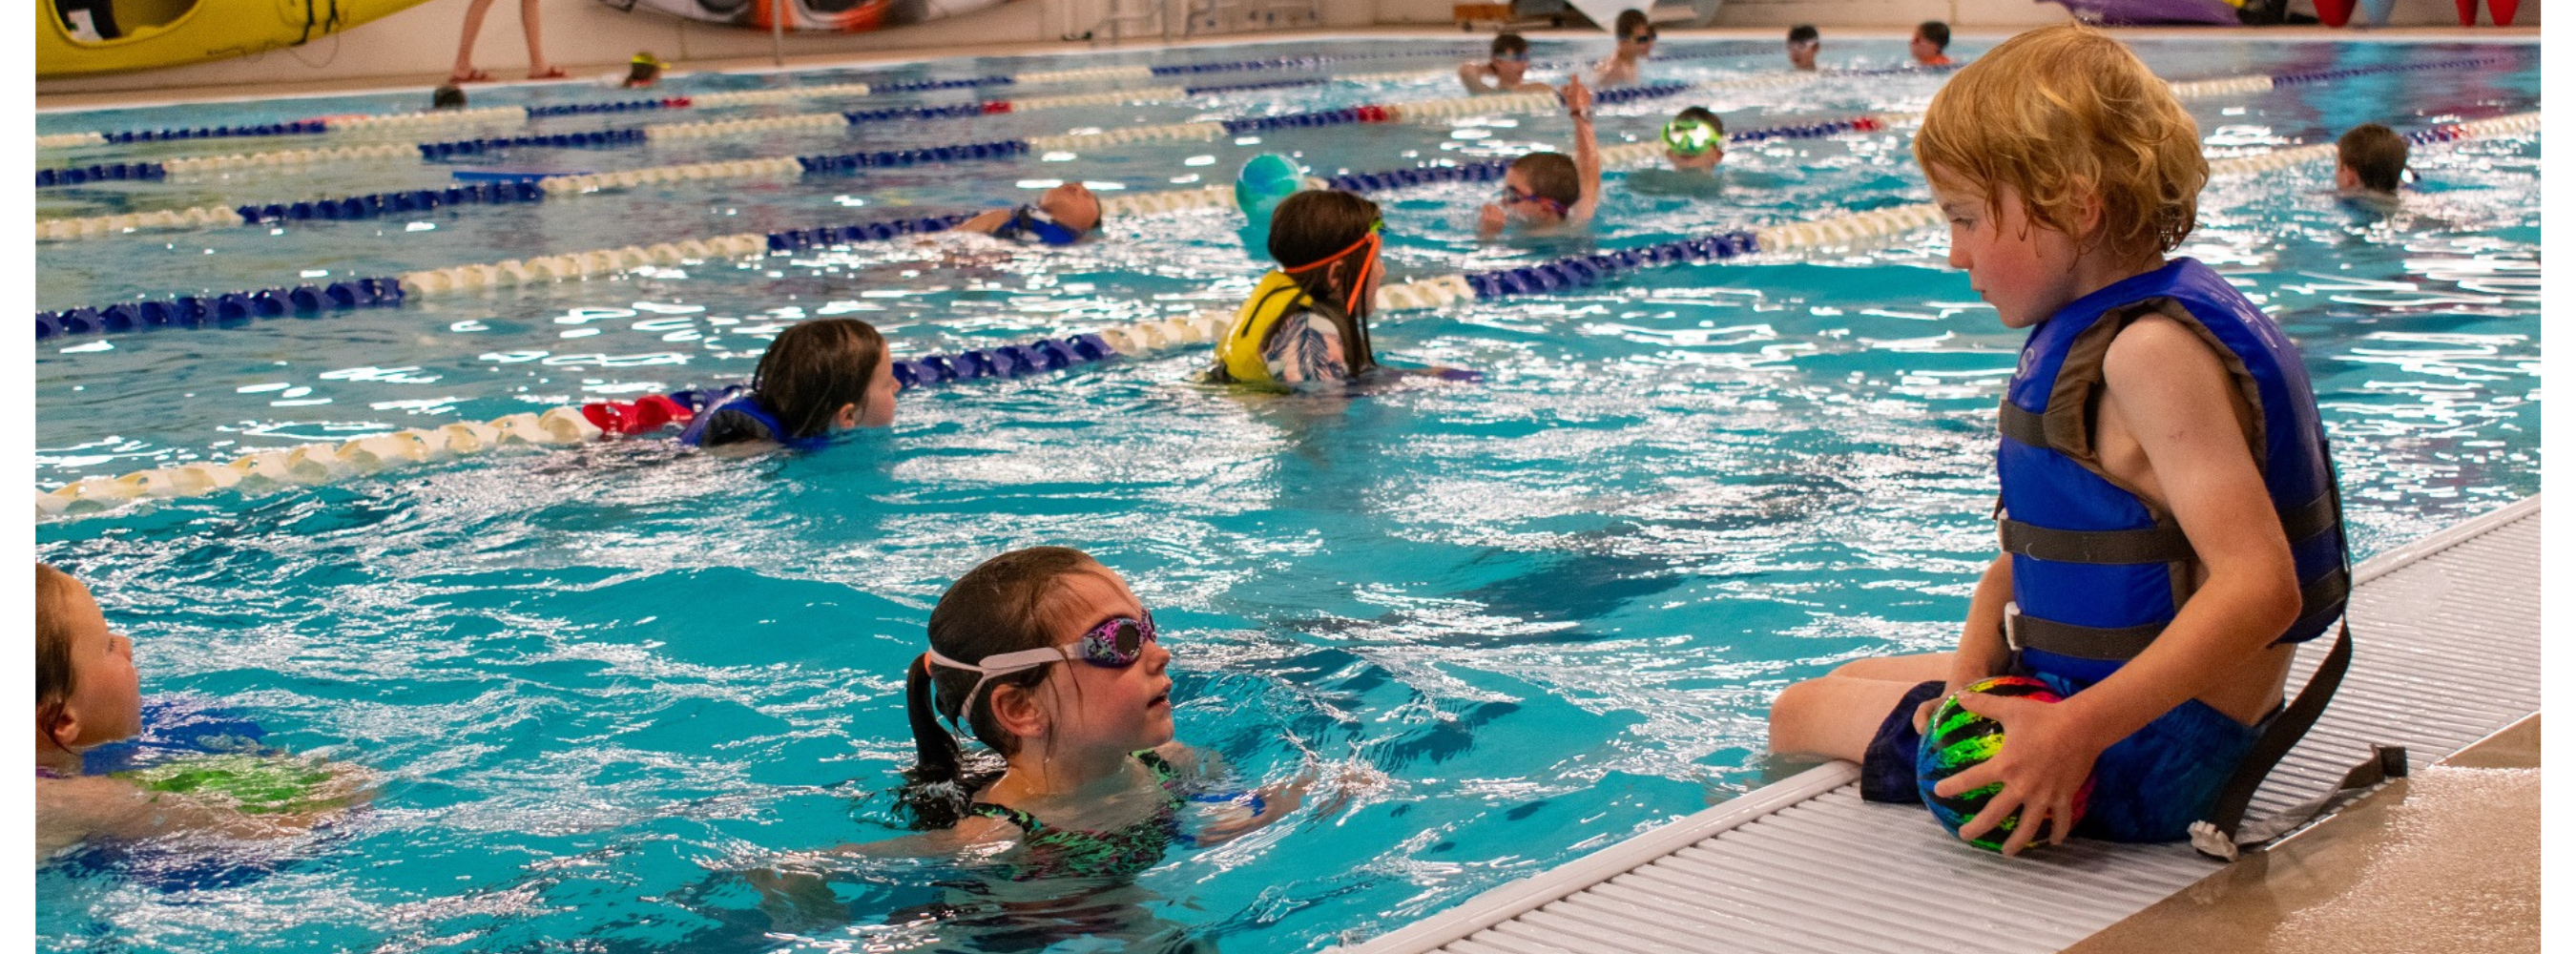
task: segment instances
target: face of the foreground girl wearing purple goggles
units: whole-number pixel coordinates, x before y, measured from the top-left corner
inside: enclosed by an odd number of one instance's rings
[[[1056,645],[1079,645],[1082,634],[1110,619],[1144,619],[1144,603],[1108,567],[1064,578],[1059,596]],[[1103,668],[1066,660],[1046,676],[1048,725],[1064,748],[1133,753],[1172,740],[1172,652],[1146,642],[1128,668]]]

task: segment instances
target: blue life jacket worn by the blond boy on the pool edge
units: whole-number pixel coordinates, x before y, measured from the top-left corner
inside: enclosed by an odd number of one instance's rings
[[[2177,258],[2032,327],[2004,394],[1996,451],[2004,482],[1996,516],[2012,554],[2004,639],[2025,668],[2079,686],[2146,650],[2192,596],[2200,567],[2172,513],[2107,480],[2092,449],[2102,356],[2143,315],[2184,322],[2210,343],[2254,410],[2254,467],[2290,539],[2303,596],[2280,642],[2324,634],[2352,588],[2334,467],[2298,346],[2210,266]]]

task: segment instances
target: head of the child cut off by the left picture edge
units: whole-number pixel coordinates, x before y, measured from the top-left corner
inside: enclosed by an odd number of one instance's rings
[[[36,565],[36,766],[80,771],[80,753],[142,732],[134,642],[108,632],[70,572]]]

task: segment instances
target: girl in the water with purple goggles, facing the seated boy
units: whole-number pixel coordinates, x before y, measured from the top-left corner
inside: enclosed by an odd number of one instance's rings
[[[907,709],[920,766],[909,810],[956,846],[1018,841],[1023,877],[1123,877],[1170,846],[1211,846],[1298,807],[1306,781],[1211,794],[1213,755],[1172,740],[1172,676],[1154,614],[1069,547],[1015,549],[930,611]],[[951,727],[1002,755],[974,771]],[[1221,820],[1182,830],[1180,810]]]

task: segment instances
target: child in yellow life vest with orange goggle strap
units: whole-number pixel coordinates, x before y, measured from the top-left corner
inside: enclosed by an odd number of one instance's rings
[[[1378,204],[1345,191],[1301,191],[1270,214],[1280,271],[1252,286],[1216,343],[1211,384],[1329,384],[1378,366],[1368,343],[1383,222]]]

